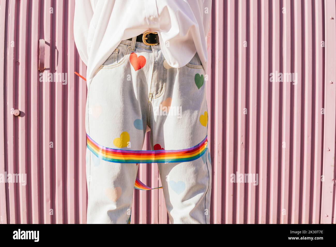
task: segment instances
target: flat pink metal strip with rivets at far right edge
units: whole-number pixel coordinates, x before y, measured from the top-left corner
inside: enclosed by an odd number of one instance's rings
[[[320,223],[336,223],[336,3],[325,1],[325,80],[322,203]]]

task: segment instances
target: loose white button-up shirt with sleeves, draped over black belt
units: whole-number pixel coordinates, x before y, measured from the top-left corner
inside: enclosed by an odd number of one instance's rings
[[[167,63],[179,68],[198,53],[207,69],[211,0],[76,0],[74,38],[87,80],[120,41],[157,32]]]

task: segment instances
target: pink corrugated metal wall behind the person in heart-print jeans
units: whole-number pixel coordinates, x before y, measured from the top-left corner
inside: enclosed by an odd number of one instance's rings
[[[336,1],[212,7],[211,222],[336,223]],[[86,221],[86,84],[74,75],[86,67],[73,15],[73,0],[0,0],[0,174],[27,174],[26,186],[0,182],[1,223]],[[67,84],[39,81],[43,57]],[[232,182],[237,173],[258,174],[258,185]],[[156,164],[139,177],[160,186]],[[162,191],[135,191],[131,222],[169,223]]]

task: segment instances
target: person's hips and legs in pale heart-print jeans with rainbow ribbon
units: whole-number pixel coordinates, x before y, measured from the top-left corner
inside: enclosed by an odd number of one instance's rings
[[[160,44],[134,38],[99,68],[86,102],[87,223],[128,223],[141,163],[158,163],[172,223],[210,222],[204,77],[197,53],[186,66],[171,68]],[[147,126],[155,151],[146,153]]]

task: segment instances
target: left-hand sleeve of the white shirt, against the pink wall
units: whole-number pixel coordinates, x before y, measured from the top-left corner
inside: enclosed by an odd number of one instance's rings
[[[88,63],[87,38],[93,16],[94,1],[76,0],[74,16],[74,40],[79,56],[84,64]]]

